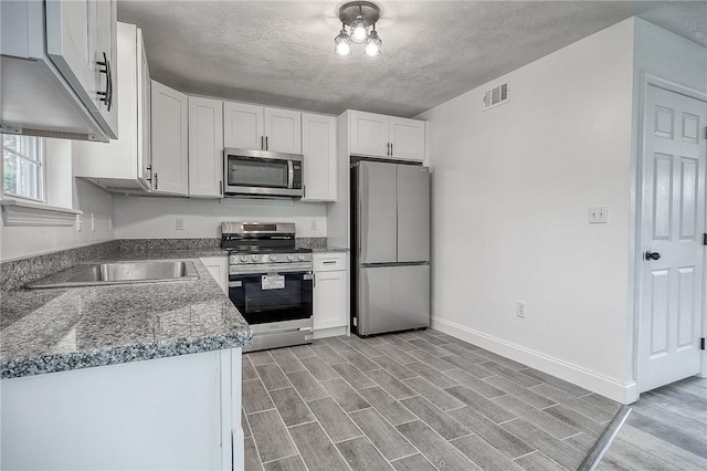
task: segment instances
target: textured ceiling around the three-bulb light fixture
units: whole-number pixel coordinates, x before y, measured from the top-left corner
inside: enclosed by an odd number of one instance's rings
[[[341,1],[119,0],[152,77],[190,94],[416,114],[633,14],[707,46],[707,2],[378,1],[382,54],[333,53]]]

